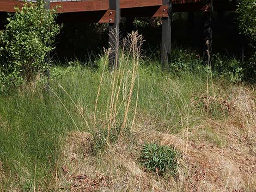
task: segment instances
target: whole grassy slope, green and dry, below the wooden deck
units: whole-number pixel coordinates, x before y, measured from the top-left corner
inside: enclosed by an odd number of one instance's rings
[[[97,69],[76,61],[53,68],[50,92],[35,82],[0,96],[1,191],[255,189],[248,164],[255,158],[254,86],[208,81],[201,69],[163,72],[156,61],[130,51],[130,57],[121,53],[118,71],[107,70],[103,55]],[[84,151],[88,138],[94,138],[92,153]],[[145,141],[182,151],[186,169],[178,181],[144,172],[138,158]],[[230,146],[242,150],[249,172],[240,173],[237,185]],[[216,159],[222,181],[214,181],[209,163]],[[233,166],[231,172],[224,165]]]

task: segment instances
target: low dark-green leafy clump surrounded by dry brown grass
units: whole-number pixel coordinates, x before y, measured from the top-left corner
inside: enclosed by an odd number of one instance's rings
[[[172,146],[160,146],[155,143],[143,145],[141,163],[149,171],[162,175],[164,172],[173,177],[178,174],[180,155]]]

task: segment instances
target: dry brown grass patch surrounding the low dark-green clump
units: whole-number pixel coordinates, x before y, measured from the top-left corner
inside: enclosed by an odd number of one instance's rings
[[[138,114],[135,142],[119,141],[93,156],[92,136],[70,133],[57,191],[256,191],[254,90],[231,91],[228,117],[209,117],[176,135],[157,132],[154,119]],[[147,126],[145,126],[147,123]],[[185,125],[186,126],[186,125]],[[147,127],[147,128],[145,128]],[[144,141],[173,145],[183,154],[177,181],[145,171],[138,163]]]

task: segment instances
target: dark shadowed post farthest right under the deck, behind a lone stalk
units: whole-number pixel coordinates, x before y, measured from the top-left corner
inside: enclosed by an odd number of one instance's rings
[[[212,0],[204,0],[202,2],[202,11],[204,13],[204,53],[203,57],[208,58],[212,52],[212,13],[214,5]]]

